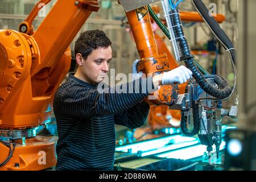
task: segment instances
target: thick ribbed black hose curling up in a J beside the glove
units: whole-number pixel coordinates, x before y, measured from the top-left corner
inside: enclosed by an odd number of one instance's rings
[[[184,60],[185,65],[188,69],[190,69],[193,73],[193,77],[196,82],[200,85],[200,87],[208,93],[210,96],[216,97],[221,100],[223,98],[229,97],[232,93],[232,88],[229,85],[229,82],[220,75],[215,76],[215,82],[220,86],[220,89],[215,88],[213,85],[209,84],[207,80],[205,80],[204,76],[201,72],[199,72],[198,68],[194,64],[193,55],[191,55],[190,48],[188,46],[187,39],[184,36],[183,27],[181,25],[180,14],[177,9],[171,10],[171,19],[174,25],[175,36],[177,38],[177,42],[179,43],[181,57],[180,60]]]

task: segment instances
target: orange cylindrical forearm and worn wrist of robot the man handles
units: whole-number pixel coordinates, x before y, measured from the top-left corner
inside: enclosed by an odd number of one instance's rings
[[[166,53],[158,53],[147,6],[126,12],[126,16],[141,57],[137,67],[138,72],[142,71],[148,76],[154,76],[169,71],[171,63],[167,59]],[[146,100],[151,105],[171,105],[175,102],[178,94],[176,85],[162,85]]]

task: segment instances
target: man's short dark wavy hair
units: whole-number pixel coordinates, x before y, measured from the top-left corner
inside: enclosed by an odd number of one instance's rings
[[[81,53],[84,59],[92,53],[94,49],[109,47],[112,42],[102,30],[88,30],[82,32],[75,42],[75,56]]]

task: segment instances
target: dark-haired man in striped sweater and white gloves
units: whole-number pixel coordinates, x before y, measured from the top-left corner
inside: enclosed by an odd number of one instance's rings
[[[143,101],[159,84],[183,83],[192,72],[181,66],[170,72],[107,88],[98,92],[112,60],[111,41],[103,31],[85,31],[76,40],[75,55],[79,65],[69,74],[53,101],[59,140],[56,146],[56,170],[112,170],[115,151],[114,124],[135,129],[144,124],[150,106]],[[133,70],[136,70],[136,64]],[[134,71],[135,72],[135,71]],[[138,76],[138,75],[137,75]],[[111,92],[131,88],[133,93]],[[147,88],[146,92],[142,92]],[[139,92],[134,92],[135,90]]]

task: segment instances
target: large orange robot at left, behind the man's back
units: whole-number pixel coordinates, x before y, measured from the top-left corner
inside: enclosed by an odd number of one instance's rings
[[[13,157],[0,170],[37,170],[56,163],[56,139],[35,137],[35,127],[51,121],[53,93],[70,67],[69,45],[99,6],[97,0],[57,1],[34,32],[40,3],[48,2],[40,1],[20,24],[26,34],[0,30],[0,138],[18,139]],[[0,151],[1,164],[9,148],[0,143]],[[39,151],[46,152],[45,165],[38,162]]]

